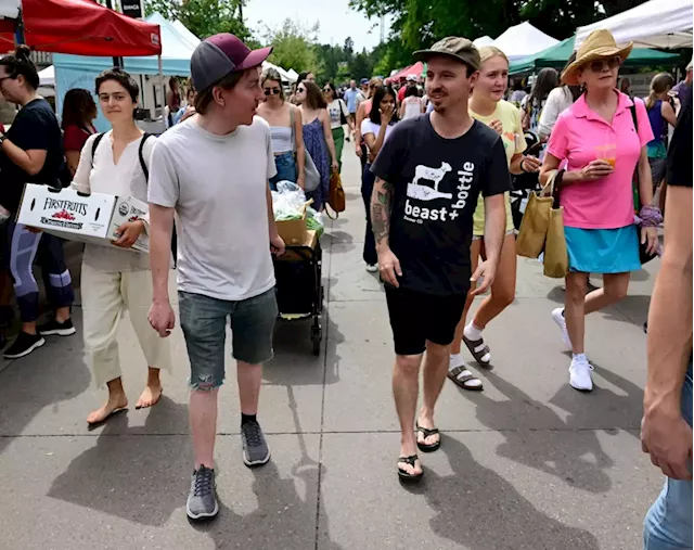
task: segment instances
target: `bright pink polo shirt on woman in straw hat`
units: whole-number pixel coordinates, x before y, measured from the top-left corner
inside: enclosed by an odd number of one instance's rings
[[[564,225],[581,229],[616,229],[633,223],[633,174],[641,149],[653,139],[643,101],[635,99],[639,133],[629,108],[634,104],[618,92],[619,103],[612,124],[591,111],[581,95],[562,113],[554,126],[548,152],[566,159],[568,170],[578,170],[601,156],[601,148],[615,145],[615,170],[596,181],[579,181],[562,189]]]

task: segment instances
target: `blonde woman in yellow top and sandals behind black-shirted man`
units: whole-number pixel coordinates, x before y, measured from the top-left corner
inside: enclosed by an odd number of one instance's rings
[[[509,84],[509,59],[499,49],[485,47],[479,49],[481,68],[470,98],[470,115],[483,124],[493,128],[501,135],[509,170],[511,174],[538,171],[540,161],[534,156],[525,156],[525,138],[520,123],[520,112],[512,103],[502,98]],[[471,247],[472,270],[477,269],[479,257],[485,255],[485,205],[480,196],[474,215],[473,243]],[[485,343],[481,331],[487,323],[503,311],[515,298],[516,292],[516,246],[513,218],[511,216],[511,201],[506,193],[506,236],[501,250],[497,277],[491,286],[491,294],[487,296],[475,314],[473,321],[465,324],[467,311],[473,303],[468,295],[463,317],[455,331],[455,340],[451,349],[450,369],[453,371],[464,364],[460,353],[464,342],[475,360],[483,367],[491,362],[489,346]],[[453,382],[465,389],[481,389],[481,382],[468,379],[464,384],[459,383],[462,378],[449,374]]]

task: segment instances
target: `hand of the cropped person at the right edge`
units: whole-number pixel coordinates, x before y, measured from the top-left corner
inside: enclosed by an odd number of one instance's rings
[[[694,430],[680,414],[646,411],[641,421],[641,448],[668,477],[692,479],[687,465],[694,459]]]

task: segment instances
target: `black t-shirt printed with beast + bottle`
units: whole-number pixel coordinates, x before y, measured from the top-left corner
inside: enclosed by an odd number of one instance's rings
[[[440,296],[467,292],[473,213],[479,193],[511,189],[501,137],[474,121],[460,138],[441,138],[430,115],[396,125],[371,167],[393,184],[390,250],[400,285]]]

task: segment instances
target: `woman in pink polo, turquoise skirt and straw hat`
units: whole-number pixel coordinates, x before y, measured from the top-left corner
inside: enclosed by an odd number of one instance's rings
[[[552,317],[574,353],[569,382],[587,392],[593,388],[593,368],[583,349],[586,315],[627,295],[630,272],[641,269],[639,241],[654,253],[656,227],[661,221],[659,210],[652,206],[646,144],[653,132],[645,105],[616,89],[619,66],[631,49],[632,44],[618,48],[607,30],[595,30],[581,44],[562,79],[584,91],[560,115],[540,176],[545,183],[552,170],[566,169],[561,204],[570,272],[566,306],[555,309]],[[637,169],[640,229],[634,225],[632,190]],[[586,295],[590,273],[602,273],[604,285]]]

